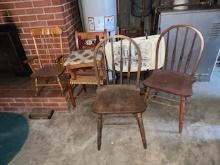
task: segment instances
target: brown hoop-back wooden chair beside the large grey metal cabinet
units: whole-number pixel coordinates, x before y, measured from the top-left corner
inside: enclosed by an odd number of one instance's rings
[[[158,68],[160,44],[165,41],[165,61]],[[180,97],[179,133],[182,132],[186,98],[193,94],[192,84],[204,48],[202,34],[189,25],[174,25],[163,31],[156,49],[156,64],[152,75],[144,80],[145,102],[150,91],[162,91]],[[156,95],[157,96],[157,95]]]

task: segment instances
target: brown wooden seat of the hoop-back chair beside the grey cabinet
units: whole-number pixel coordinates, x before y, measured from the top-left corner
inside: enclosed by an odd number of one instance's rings
[[[155,70],[149,78],[144,80],[143,84],[156,90],[188,97],[193,94],[194,81],[195,79],[186,74]]]

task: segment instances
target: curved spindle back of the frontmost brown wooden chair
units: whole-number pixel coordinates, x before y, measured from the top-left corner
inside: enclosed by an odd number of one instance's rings
[[[117,42],[116,42],[117,41]],[[127,42],[126,44],[124,44]],[[117,43],[117,45],[115,45]],[[111,51],[106,51],[106,44],[111,45]],[[127,45],[128,47],[124,48],[124,46]],[[120,47],[120,51],[115,52],[114,47],[118,46]],[[126,49],[126,52],[125,52]],[[136,59],[132,59],[132,52]],[[108,60],[111,59],[112,64],[112,83],[116,83],[117,77],[119,77],[120,84],[124,84],[125,82],[130,84],[131,83],[131,65],[136,63],[137,70],[134,72],[136,74],[136,87],[139,87],[140,84],[140,71],[141,71],[141,51],[138,47],[138,45],[135,43],[135,41],[127,36],[124,35],[115,35],[112,37],[108,37],[101,41],[95,48],[94,52],[94,65],[96,69],[96,77],[98,81],[98,86],[100,86],[100,75],[99,75],[99,65],[97,62],[98,56],[102,56],[104,59],[104,67],[105,70],[108,71]],[[107,58],[107,56],[110,56],[110,58]],[[116,66],[117,65],[117,66]],[[116,69],[118,68],[118,70]],[[123,73],[124,67],[127,67],[127,73]],[[124,76],[126,74],[126,76]],[[108,76],[109,74],[107,74]],[[123,78],[126,77],[127,81],[125,81]],[[109,84],[109,77],[107,78],[107,84]]]

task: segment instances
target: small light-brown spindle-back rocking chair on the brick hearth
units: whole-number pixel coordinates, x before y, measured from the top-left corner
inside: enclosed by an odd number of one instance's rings
[[[62,65],[63,44],[62,29],[59,27],[43,27],[31,29],[37,56],[29,58],[27,62],[32,68],[32,77],[35,79],[35,95],[39,87],[58,86],[63,94],[60,76],[65,68]],[[34,60],[39,64],[35,69]]]

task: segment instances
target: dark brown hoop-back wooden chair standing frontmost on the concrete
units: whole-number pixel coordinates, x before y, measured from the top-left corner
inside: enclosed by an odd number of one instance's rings
[[[120,52],[115,52],[113,40],[120,40]],[[106,55],[106,42],[111,43],[111,52],[108,55],[112,58],[112,80],[110,80],[110,76],[107,79],[107,84],[101,86],[101,79],[99,75],[99,65],[97,64],[97,57],[103,56],[105,59],[104,68],[108,72],[108,65],[110,63],[108,61]],[[129,48],[127,55],[125,55],[124,49],[124,42],[127,42]],[[133,50],[131,50],[133,49]],[[131,58],[131,52],[135,51],[136,59]],[[117,53],[117,57],[115,56]],[[119,53],[119,54],[118,54]],[[125,57],[126,56],[126,57]],[[117,58],[120,58],[118,62],[116,62]],[[145,104],[143,98],[140,96],[140,71],[141,71],[141,52],[138,45],[129,37],[123,35],[116,35],[114,37],[107,38],[100,42],[95,48],[95,55],[94,55],[94,63],[96,68],[96,76],[98,81],[98,89],[97,89],[97,96],[96,101],[93,105],[93,112],[97,113],[98,115],[98,143],[97,147],[98,150],[101,148],[101,136],[102,136],[102,127],[103,127],[103,116],[110,115],[110,114],[132,114],[136,117],[138,126],[141,133],[141,138],[143,142],[143,146],[146,149],[147,143],[145,138],[145,130],[142,120],[142,113],[145,111]],[[125,65],[126,63],[126,65]],[[117,65],[117,66],[116,66]],[[136,70],[133,72],[132,76],[135,76],[134,79],[131,79],[131,66],[136,65]],[[127,68],[127,72],[123,74],[124,68]],[[119,70],[116,70],[120,68]],[[119,72],[119,74],[116,74]],[[107,75],[109,74],[106,73]],[[119,77],[116,77],[116,76]],[[126,75],[126,76],[125,76]],[[118,79],[118,81],[117,81]],[[118,82],[118,84],[117,84]]]

